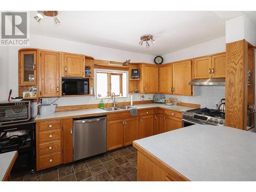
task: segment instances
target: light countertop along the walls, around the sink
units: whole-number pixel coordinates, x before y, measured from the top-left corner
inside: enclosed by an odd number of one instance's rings
[[[136,104],[134,105],[138,110],[140,109],[147,109],[147,108],[163,108],[167,110],[174,110],[174,111],[186,111],[193,108],[188,108],[186,106],[177,106],[177,105],[165,105],[164,103],[148,103],[148,104]],[[118,110],[114,111],[114,113],[124,112],[129,110]],[[91,108],[91,109],[84,109],[84,110],[72,110],[72,111],[61,111],[56,112],[54,114],[49,115],[37,115],[35,121],[46,120],[46,119],[61,119],[66,117],[80,117],[80,116],[94,116],[94,115],[106,115],[108,113],[113,113],[113,111],[105,111],[99,108]]]

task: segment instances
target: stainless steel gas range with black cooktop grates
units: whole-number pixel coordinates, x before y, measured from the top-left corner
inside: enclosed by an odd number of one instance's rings
[[[225,126],[225,112],[208,108],[187,110],[182,113],[182,119],[183,121],[187,120],[191,124],[212,124]]]

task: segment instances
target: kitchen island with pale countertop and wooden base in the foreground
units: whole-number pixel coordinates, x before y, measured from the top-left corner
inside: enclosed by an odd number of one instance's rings
[[[256,134],[191,125],[139,139],[138,181],[256,181]]]

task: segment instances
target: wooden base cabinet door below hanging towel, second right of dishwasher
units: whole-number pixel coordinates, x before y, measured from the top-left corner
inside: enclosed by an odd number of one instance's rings
[[[125,119],[123,126],[123,145],[130,145],[137,139],[139,139],[139,118]]]

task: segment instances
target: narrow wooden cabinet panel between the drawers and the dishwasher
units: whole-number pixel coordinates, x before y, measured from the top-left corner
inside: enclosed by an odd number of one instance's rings
[[[63,163],[73,161],[73,118],[63,119]]]

